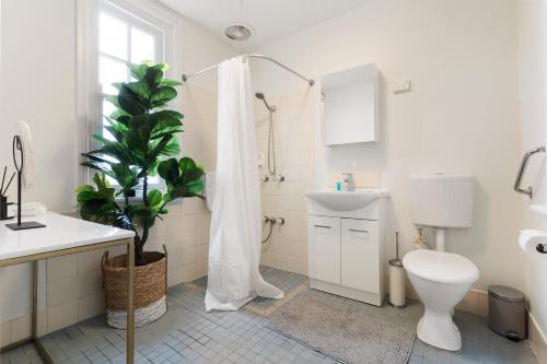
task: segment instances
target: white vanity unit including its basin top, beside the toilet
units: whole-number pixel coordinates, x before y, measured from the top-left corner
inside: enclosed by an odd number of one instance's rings
[[[381,306],[387,189],[306,193],[310,286]]]

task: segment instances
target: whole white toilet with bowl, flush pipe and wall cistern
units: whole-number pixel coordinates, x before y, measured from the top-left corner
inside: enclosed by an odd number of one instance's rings
[[[444,237],[446,228],[473,225],[474,186],[475,178],[469,175],[410,178],[414,223],[437,227],[437,250],[414,250],[403,258],[424,306],[416,331],[421,341],[450,351],[462,348],[459,330],[452,320],[454,306],[479,279],[479,271],[469,259],[445,253]]]

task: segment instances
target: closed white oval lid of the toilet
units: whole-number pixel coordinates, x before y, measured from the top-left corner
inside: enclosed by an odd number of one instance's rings
[[[414,275],[439,283],[473,283],[479,278],[469,259],[445,251],[410,251],[403,258],[403,267]]]

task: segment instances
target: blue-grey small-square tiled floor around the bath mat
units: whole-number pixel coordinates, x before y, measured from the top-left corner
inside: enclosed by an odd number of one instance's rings
[[[269,270],[267,275],[298,281],[298,277],[291,274]],[[206,313],[203,294],[205,290],[197,284],[170,289],[167,314],[137,330],[137,363],[334,363],[265,328],[268,320],[265,316],[247,309]],[[313,294],[318,300],[330,297],[326,293]],[[368,305],[366,309],[371,315],[409,325],[421,313],[417,305],[403,310]],[[488,329],[485,318],[457,312],[455,320],[464,338],[461,352],[438,350],[416,340],[409,363],[537,363],[526,341],[511,342],[497,336]],[[48,334],[42,342],[55,363],[125,363],[125,332],[107,328],[103,317]],[[31,347],[23,347],[2,354],[1,363],[39,362]]]

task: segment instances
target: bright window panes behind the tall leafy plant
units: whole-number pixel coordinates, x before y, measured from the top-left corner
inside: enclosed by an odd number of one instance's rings
[[[97,36],[97,75],[101,121],[97,132],[104,138],[113,140],[114,137],[104,129],[105,116],[114,110],[114,106],[105,96],[117,91],[112,86],[114,82],[131,81],[127,64],[142,61],[164,61],[163,31],[120,8],[102,2],[98,8],[98,36]],[[110,179],[115,185],[115,181]],[[158,177],[149,177],[151,187],[159,187]]]

